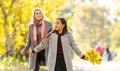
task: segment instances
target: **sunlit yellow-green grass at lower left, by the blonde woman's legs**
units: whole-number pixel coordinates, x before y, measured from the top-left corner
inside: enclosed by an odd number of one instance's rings
[[[46,66],[41,66],[40,71],[47,71]],[[28,61],[19,61],[14,57],[7,57],[0,60],[0,71],[30,71]]]

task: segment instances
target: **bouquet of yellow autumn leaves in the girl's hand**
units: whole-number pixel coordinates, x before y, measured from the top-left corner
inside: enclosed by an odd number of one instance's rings
[[[86,51],[85,57],[92,64],[100,64],[101,63],[100,53],[96,52],[94,48],[91,48],[89,51]]]

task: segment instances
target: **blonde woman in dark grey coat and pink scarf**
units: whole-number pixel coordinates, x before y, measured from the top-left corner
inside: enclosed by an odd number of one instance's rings
[[[29,24],[27,45],[21,50],[21,54],[25,54],[29,48],[30,50],[35,48],[51,30],[52,25],[49,21],[45,20],[42,10],[35,8],[33,10],[32,20]],[[47,49],[37,52],[37,54],[33,56],[29,56],[30,70],[39,71],[39,65],[45,65],[45,52],[47,52]]]

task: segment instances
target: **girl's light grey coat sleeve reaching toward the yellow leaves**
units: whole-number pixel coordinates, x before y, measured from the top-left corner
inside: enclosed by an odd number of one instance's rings
[[[69,33],[69,41],[70,41],[70,46],[76,52],[76,54],[79,55],[80,57],[82,57],[83,54],[80,51],[80,49],[78,48],[77,44],[75,43],[75,40],[74,40],[72,34],[70,34],[70,33]]]

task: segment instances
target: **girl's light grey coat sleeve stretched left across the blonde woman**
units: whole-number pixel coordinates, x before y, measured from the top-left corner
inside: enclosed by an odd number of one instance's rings
[[[41,41],[39,45],[37,45],[33,50],[35,53],[47,48],[49,46],[49,37],[45,38]]]

